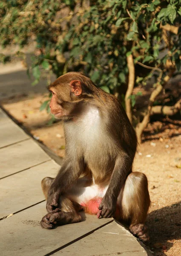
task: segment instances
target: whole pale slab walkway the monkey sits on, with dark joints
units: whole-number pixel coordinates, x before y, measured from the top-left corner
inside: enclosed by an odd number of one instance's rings
[[[59,165],[0,109],[0,255],[146,256],[129,231],[112,218],[54,230],[40,227],[46,214],[40,182]]]

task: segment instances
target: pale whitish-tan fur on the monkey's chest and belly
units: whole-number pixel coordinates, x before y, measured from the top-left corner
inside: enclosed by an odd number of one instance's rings
[[[82,155],[93,169],[93,165],[100,168],[99,163],[106,162],[107,154],[102,151],[106,148],[109,152],[111,143],[98,108],[89,106],[78,120],[66,123],[65,134],[70,157]]]

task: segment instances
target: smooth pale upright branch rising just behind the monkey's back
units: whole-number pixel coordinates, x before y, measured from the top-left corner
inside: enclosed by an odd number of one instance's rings
[[[134,65],[132,54],[127,57],[127,65],[129,70],[129,80],[128,80],[128,88],[125,95],[125,107],[126,107],[126,114],[129,118],[129,121],[132,123],[131,99],[129,98],[129,96],[132,95],[133,87],[135,84],[135,65]]]

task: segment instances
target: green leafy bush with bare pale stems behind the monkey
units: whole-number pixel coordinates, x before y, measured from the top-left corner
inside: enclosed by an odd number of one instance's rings
[[[32,41],[37,43],[33,85],[43,70],[57,77],[83,71],[122,100],[131,122],[133,87],[154,77],[144,117],[134,119],[140,136],[156,97],[181,69],[181,0],[2,0],[0,45],[21,48]],[[0,61],[9,58],[0,55]]]

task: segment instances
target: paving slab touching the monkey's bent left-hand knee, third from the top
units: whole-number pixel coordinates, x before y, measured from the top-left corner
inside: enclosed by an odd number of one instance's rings
[[[49,160],[0,180],[0,218],[43,201],[41,180],[55,177],[60,166]],[[46,214],[46,209],[45,209]]]

